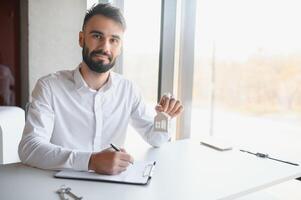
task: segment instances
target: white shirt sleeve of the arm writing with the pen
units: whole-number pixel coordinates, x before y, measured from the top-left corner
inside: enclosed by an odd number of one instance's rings
[[[51,99],[49,85],[45,80],[39,80],[32,92],[32,103],[19,144],[19,157],[23,163],[42,169],[87,171],[91,152],[51,144],[55,118]]]

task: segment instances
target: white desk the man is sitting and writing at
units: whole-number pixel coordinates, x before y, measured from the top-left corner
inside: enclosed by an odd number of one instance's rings
[[[135,152],[132,152],[135,155]],[[84,199],[234,199],[301,176],[301,167],[260,159],[237,149],[219,152],[182,140],[136,152],[136,160],[156,160],[147,186],[53,178],[53,171],[14,164],[0,167],[0,198],[59,199],[63,184]]]

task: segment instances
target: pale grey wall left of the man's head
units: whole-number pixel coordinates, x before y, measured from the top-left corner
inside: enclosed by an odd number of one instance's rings
[[[28,0],[29,94],[36,81],[82,60],[78,44],[86,0]]]

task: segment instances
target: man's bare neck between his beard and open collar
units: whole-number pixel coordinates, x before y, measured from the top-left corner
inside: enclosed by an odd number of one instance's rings
[[[84,62],[82,62],[81,64],[80,73],[89,88],[93,90],[99,90],[103,85],[105,85],[110,75],[110,71],[107,71],[105,73],[93,72]]]

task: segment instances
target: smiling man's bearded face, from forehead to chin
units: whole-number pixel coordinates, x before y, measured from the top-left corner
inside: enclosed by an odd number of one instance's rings
[[[118,22],[95,15],[79,33],[83,61],[90,70],[104,73],[110,70],[120,55],[123,29]]]

